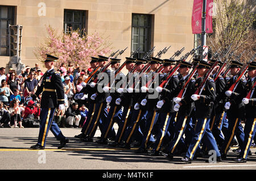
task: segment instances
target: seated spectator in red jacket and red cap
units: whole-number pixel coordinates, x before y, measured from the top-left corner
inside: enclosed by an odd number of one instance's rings
[[[24,110],[23,119],[35,118],[39,119],[40,115],[40,105],[36,104],[33,100],[30,100]]]

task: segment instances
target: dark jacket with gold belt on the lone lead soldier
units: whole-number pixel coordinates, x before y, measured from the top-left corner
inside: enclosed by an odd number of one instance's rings
[[[64,104],[63,82],[60,74],[56,73],[54,69],[44,74],[42,83],[32,98],[35,99],[35,96],[38,97],[41,93],[41,108],[56,108],[59,104]]]

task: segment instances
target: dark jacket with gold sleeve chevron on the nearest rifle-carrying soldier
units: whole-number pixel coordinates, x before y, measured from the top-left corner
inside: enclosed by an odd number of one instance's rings
[[[194,93],[201,85],[203,78],[199,77],[195,81]],[[193,94],[194,94],[193,93]],[[210,117],[213,110],[213,102],[216,99],[216,86],[212,78],[208,78],[205,83],[203,91],[201,91],[200,98],[195,101],[195,116],[196,118]]]

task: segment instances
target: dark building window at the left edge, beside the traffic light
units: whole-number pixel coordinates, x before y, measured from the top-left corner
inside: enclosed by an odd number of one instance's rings
[[[0,56],[9,56],[9,24],[14,25],[15,7],[0,6]]]

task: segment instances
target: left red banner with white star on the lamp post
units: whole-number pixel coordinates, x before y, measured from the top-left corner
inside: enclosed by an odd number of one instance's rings
[[[202,32],[202,10],[203,0],[194,0],[191,21],[193,34],[199,34]]]

